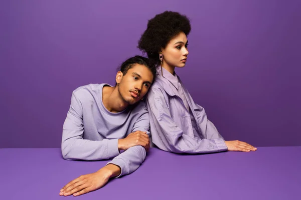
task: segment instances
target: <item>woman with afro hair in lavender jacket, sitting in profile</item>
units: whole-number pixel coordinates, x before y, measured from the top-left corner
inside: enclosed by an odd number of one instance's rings
[[[157,65],[156,81],[145,98],[153,142],[177,153],[254,151],[242,141],[225,141],[205,110],[196,104],[175,72],[188,55],[190,21],[178,12],[165,11],[150,19],[138,47]]]

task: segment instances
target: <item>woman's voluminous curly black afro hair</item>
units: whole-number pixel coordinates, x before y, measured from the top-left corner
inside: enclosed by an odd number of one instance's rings
[[[138,41],[138,48],[147,53],[155,65],[160,63],[159,52],[180,32],[186,35],[191,30],[187,16],[174,11],[165,11],[149,19],[147,28]]]

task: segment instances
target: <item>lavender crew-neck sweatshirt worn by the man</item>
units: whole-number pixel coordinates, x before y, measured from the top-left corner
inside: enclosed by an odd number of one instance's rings
[[[65,159],[82,160],[114,157],[107,164],[120,166],[121,176],[136,170],[146,151],[137,145],[120,153],[118,138],[136,130],[149,135],[149,116],[143,101],[117,113],[108,111],[102,102],[103,85],[108,84],[89,84],[73,91],[63,125],[62,154]]]

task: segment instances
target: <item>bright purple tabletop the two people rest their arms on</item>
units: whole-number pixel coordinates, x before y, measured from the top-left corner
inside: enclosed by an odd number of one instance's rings
[[[136,171],[76,199],[299,199],[300,157],[301,146],[203,155],[151,148]],[[67,161],[59,148],[3,148],[0,160],[0,198],[18,200],[65,199],[62,186],[106,163]]]

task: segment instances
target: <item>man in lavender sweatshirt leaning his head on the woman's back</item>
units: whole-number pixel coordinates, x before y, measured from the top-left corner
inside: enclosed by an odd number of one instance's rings
[[[131,173],[139,167],[149,148],[149,117],[140,99],[153,83],[155,74],[156,69],[149,66],[148,59],[136,55],[122,63],[115,86],[89,84],[73,91],[63,125],[63,157],[114,158],[98,171],[70,181],[60,195],[77,196],[93,191],[109,178]]]

